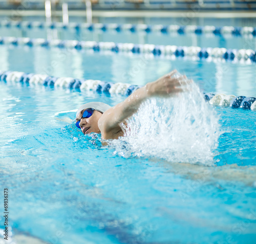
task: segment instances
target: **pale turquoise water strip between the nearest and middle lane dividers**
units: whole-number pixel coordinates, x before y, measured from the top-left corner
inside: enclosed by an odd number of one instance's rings
[[[193,79],[202,92],[256,95],[255,63],[172,60],[154,55],[0,45],[1,70],[70,76],[144,85],[174,69]]]

